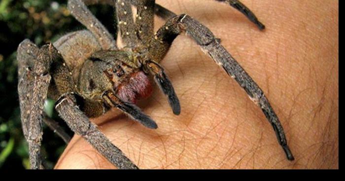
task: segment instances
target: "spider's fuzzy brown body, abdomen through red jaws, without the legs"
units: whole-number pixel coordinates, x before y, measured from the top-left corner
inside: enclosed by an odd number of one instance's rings
[[[102,98],[106,90],[113,90],[121,100],[134,104],[150,96],[152,85],[149,72],[143,66],[144,62],[157,57],[149,53],[150,47],[139,44],[122,50],[102,50],[96,43],[90,46],[90,42],[96,41],[90,31],[81,30],[69,33],[54,43],[72,74],[75,93],[83,98],[78,102],[82,111],[88,117],[104,114],[109,109]],[[80,56],[80,52],[87,53]],[[164,55],[158,54],[160,57]],[[48,91],[50,98],[56,100],[59,96],[58,92],[52,95]]]

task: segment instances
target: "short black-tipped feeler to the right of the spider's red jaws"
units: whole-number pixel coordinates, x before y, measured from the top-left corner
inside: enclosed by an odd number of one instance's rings
[[[163,91],[164,94],[168,96],[168,101],[170,107],[173,109],[173,114],[179,115],[181,112],[181,106],[173,89],[173,85],[170,82],[168,76],[165,74],[163,67],[158,63],[150,60],[145,62],[145,67],[150,71],[152,75],[154,75],[155,82],[157,83],[161,91]]]

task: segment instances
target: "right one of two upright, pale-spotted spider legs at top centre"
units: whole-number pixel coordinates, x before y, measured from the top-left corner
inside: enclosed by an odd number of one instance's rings
[[[155,0],[138,0],[136,15],[136,33],[139,40],[147,45],[153,36],[153,16]]]

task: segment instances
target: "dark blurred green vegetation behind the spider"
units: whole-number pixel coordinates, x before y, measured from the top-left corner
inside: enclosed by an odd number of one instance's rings
[[[113,8],[93,5],[91,11],[114,32]],[[67,0],[0,0],[0,168],[30,168],[28,146],[23,136],[17,92],[17,46],[25,38],[41,46],[54,42],[63,34],[84,27],[69,14]],[[67,131],[66,124],[52,114],[50,101],[48,115]],[[42,153],[51,168],[66,144],[47,126],[43,128]],[[69,131],[70,135],[72,133]]]

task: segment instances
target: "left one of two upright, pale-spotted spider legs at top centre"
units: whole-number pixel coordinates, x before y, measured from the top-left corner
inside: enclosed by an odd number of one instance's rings
[[[116,0],[117,26],[123,43],[130,47],[138,45],[136,25],[133,19],[131,3],[128,0]]]

